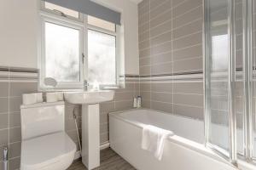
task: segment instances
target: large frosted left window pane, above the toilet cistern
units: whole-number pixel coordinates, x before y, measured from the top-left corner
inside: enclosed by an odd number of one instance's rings
[[[45,77],[79,82],[79,30],[45,23]]]

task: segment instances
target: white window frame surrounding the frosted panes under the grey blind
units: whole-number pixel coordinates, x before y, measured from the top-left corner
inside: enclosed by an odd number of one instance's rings
[[[45,22],[50,22],[53,24],[57,24],[60,26],[67,26],[70,28],[74,28],[79,30],[79,54],[80,54],[80,82],[58,82],[58,85],[53,87],[47,87],[44,85],[45,78]],[[86,14],[79,13],[79,19],[65,15],[63,16],[61,13],[55,12],[53,10],[47,9],[44,6],[44,2],[42,1],[41,6],[39,8],[39,23],[38,23],[38,31],[40,32],[38,36],[38,68],[40,70],[39,76],[39,90],[47,91],[47,90],[76,90],[84,88],[84,80],[88,81],[88,30],[99,31],[108,35],[112,35],[116,37],[116,50],[115,50],[115,65],[116,65],[116,84],[108,85],[100,84],[100,88],[119,88],[120,81],[120,26],[115,25],[115,32],[108,31],[107,29],[103,29],[97,26],[90,26],[88,24],[88,17]]]

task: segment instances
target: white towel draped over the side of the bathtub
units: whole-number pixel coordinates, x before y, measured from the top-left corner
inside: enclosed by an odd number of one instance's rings
[[[165,139],[172,135],[172,131],[146,125],[143,127],[142,148],[154,153],[154,157],[160,161],[164,152]]]

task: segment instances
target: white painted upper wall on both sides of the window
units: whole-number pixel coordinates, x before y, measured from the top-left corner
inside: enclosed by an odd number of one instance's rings
[[[137,4],[97,0],[122,12],[125,26],[125,74],[139,74]],[[37,68],[37,0],[1,0],[0,66]]]

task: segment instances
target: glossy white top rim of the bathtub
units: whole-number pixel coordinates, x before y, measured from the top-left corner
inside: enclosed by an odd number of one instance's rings
[[[115,119],[118,119],[119,121],[122,121],[122,122],[125,122],[125,123],[128,123],[132,126],[135,126],[141,130],[143,130],[143,123],[139,123],[139,122],[136,122],[136,121],[131,121],[131,120],[127,120],[125,119],[125,117],[123,116],[120,116],[120,114],[122,113],[125,113],[127,111],[156,111],[156,110],[153,110],[153,109],[148,109],[148,108],[135,108],[135,109],[129,109],[129,110],[125,110],[125,111],[113,111],[113,112],[109,112],[108,113],[108,116],[109,118],[110,117],[113,117]],[[166,114],[166,115],[169,115],[169,116],[179,116],[179,115],[175,115],[175,114],[172,114],[172,113],[167,113],[165,111],[156,111],[156,112],[159,112],[159,113],[162,113],[162,114]],[[187,116],[179,116],[179,117],[183,117],[183,118],[188,118],[188,119],[192,119],[194,121],[198,121],[198,122],[203,122],[203,120],[201,121],[200,119],[194,119],[194,118],[191,118],[191,117],[187,117]],[[212,158],[214,161],[221,161],[222,163],[230,166],[230,167],[235,167],[233,164],[231,164],[229,161],[226,161],[224,158],[222,158],[221,156],[218,156],[218,154],[216,154],[214,151],[210,150],[206,145],[205,143],[203,144],[200,144],[198,142],[195,142],[193,140],[190,140],[190,139],[185,139],[181,136],[178,136],[176,135],[175,133],[170,136],[168,139],[167,139],[169,142],[171,143],[174,143],[174,144],[179,144],[189,150],[194,150],[196,152],[199,152],[205,156],[209,156],[210,158]],[[253,166],[252,168],[252,165],[251,164],[248,164],[246,161],[242,161],[240,159],[237,160],[238,161],[238,167],[235,167],[236,169],[238,169],[239,167],[245,167],[247,168],[248,170],[253,170],[253,168],[255,168]]]

